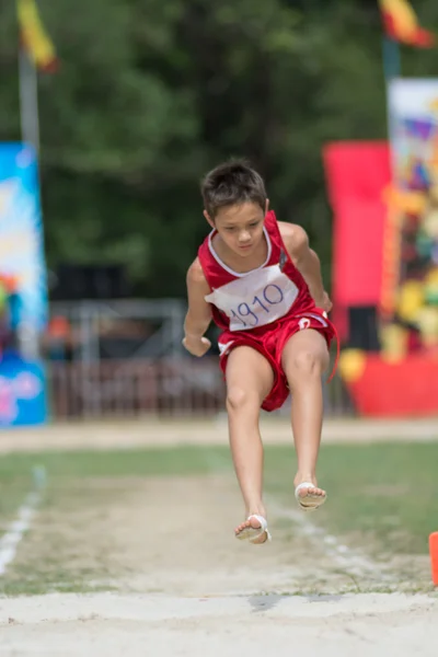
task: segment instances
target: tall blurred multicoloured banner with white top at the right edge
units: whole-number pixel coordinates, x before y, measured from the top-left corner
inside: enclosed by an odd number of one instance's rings
[[[438,83],[390,84],[395,178],[385,191],[388,215],[400,241],[397,293],[392,319],[419,333],[422,347],[438,344]]]

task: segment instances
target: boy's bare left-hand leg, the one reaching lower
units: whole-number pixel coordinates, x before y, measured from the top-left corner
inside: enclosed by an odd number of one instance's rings
[[[246,518],[253,514],[266,517],[258,417],[262,402],[272,389],[274,372],[258,351],[251,347],[237,347],[228,357],[226,381],[231,453]],[[254,518],[246,520],[235,528],[235,534],[250,526],[256,529],[261,523]],[[257,542],[263,543],[266,538],[264,534]]]

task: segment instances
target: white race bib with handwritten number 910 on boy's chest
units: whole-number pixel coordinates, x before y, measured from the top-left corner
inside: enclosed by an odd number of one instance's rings
[[[279,265],[272,265],[232,280],[205,300],[230,318],[230,331],[247,331],[283,318],[297,296],[297,286]]]

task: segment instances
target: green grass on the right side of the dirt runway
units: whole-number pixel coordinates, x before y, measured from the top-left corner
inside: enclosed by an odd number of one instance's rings
[[[267,489],[291,499],[290,450],[270,449],[266,461]],[[374,554],[427,551],[438,531],[438,442],[323,447],[318,474],[330,503],[312,520]]]

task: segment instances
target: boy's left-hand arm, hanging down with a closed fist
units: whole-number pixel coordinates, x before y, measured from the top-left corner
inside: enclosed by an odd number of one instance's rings
[[[211,308],[205,300],[210,288],[198,258],[189,266],[186,283],[188,310],[184,321],[183,345],[194,356],[204,356],[211,346],[210,341],[204,337],[211,322]]]

